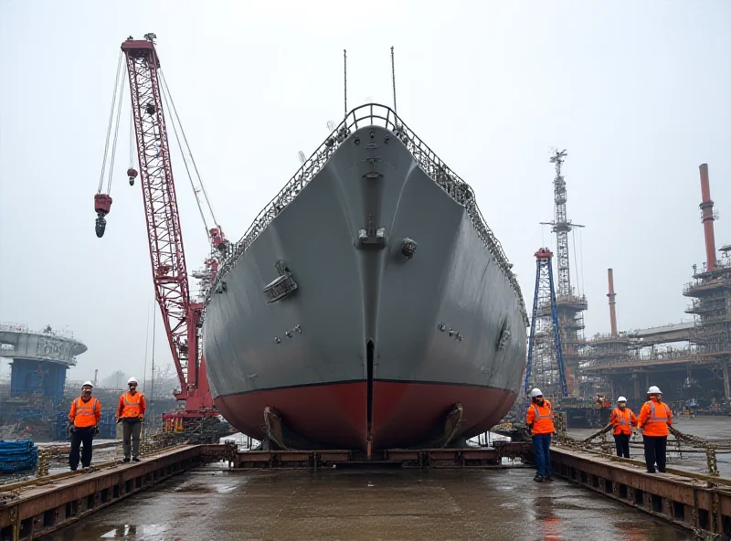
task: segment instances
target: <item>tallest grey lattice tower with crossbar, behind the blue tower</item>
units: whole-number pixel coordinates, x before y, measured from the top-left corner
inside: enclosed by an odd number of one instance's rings
[[[568,233],[573,228],[583,228],[573,223],[567,217],[567,190],[566,180],[561,175],[561,165],[566,161],[567,151],[556,150],[549,162],[555,165],[554,177],[554,219],[551,222],[541,222],[551,226],[556,233],[556,268],[558,274],[556,292],[556,314],[558,330],[561,336],[561,353],[566,362],[567,377],[572,387],[577,384],[578,363],[583,359],[584,339],[584,311],[587,310],[587,298],[579,295],[576,288],[571,286],[571,270],[569,265]]]

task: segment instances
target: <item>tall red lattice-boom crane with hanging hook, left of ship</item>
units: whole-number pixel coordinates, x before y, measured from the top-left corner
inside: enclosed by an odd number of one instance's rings
[[[203,302],[193,302],[190,298],[185,249],[183,248],[183,232],[180,227],[170,146],[164,118],[163,102],[167,102],[168,96],[163,94],[160,84],[160,58],[158,58],[154,47],[154,38],[154,34],[146,34],[144,39],[128,37],[122,43],[122,55],[129,75],[134,133],[131,145],[134,143],[134,146],[136,146],[140,168],[140,184],[143,190],[144,216],[147,224],[155,298],[163,314],[164,328],[180,382],[180,390],[174,393],[175,398],[185,400],[185,409],[176,411],[174,414],[168,414],[166,420],[175,420],[175,428],[179,430],[185,420],[216,416],[217,411],[213,408],[213,399],[208,387],[206,360],[201,355],[200,330],[203,324]],[[123,79],[123,73],[122,78],[120,77],[122,55],[117,68],[115,97],[117,88],[120,87],[119,83]],[[114,143],[116,143],[119,128],[122,87],[120,87],[119,94]],[[113,111],[114,99],[112,100],[110,114],[110,129],[107,133],[107,146],[109,146]],[[175,124],[173,124],[173,127],[175,129]],[[177,137],[176,131],[175,135]],[[111,150],[110,184],[111,168],[113,168],[114,161],[114,143],[112,143]],[[178,143],[180,143],[179,139]],[[133,185],[137,171],[132,167],[132,148],[130,154],[131,164],[127,170],[127,175],[129,176],[130,185]],[[104,165],[102,164],[102,181],[103,176]],[[94,196],[98,237],[104,234],[104,228],[106,227],[104,217],[111,208],[109,185],[107,194],[101,193],[102,181],[100,181],[99,193]],[[200,206],[199,199],[198,205]],[[203,216],[202,209],[201,216]],[[228,243],[219,227],[207,228],[207,233],[213,251],[226,248]],[[216,270],[217,260],[209,258],[206,260],[206,270],[197,272],[194,276],[210,283]]]

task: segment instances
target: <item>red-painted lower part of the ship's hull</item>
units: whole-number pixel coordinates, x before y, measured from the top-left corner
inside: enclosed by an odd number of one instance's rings
[[[503,419],[514,400],[514,393],[489,387],[375,381],[373,448],[423,443],[430,430],[444,426],[458,402],[464,412],[461,436],[475,436]],[[273,406],[282,422],[307,440],[337,449],[365,450],[365,381],[252,391],[218,397],[215,403],[228,422],[253,438],[264,438],[264,408]]]

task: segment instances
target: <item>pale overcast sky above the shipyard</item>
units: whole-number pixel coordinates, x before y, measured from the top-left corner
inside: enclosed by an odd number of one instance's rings
[[[120,44],[154,32],[229,238],[342,119],[344,48],[349,107],[390,104],[393,45],[399,115],[474,188],[529,305],[533,253],[555,245],[538,222],[553,217],[558,146],[568,216],[586,226],[572,281],[587,334],[609,330],[609,267],[620,329],[679,322],[683,283],[705,260],[699,164],[722,217],[716,246],[731,242],[730,27],[725,0],[0,0],[0,321],[68,325],[89,346],[71,379],[142,376],[154,292],[139,182],[124,175],[128,122],[103,239],[93,196]],[[207,240],[171,145],[192,271]]]

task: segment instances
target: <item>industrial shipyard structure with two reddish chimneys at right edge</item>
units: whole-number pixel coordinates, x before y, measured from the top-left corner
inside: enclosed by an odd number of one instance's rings
[[[580,361],[584,394],[600,389],[614,399],[624,395],[638,404],[647,388],[657,385],[679,412],[731,414],[731,245],[715,249],[716,215],[707,164],[700,165],[700,178],[706,260],[693,266],[693,281],[682,290],[690,299],[685,313],[693,320],[620,332],[609,269],[610,332],[596,334],[585,344]]]

